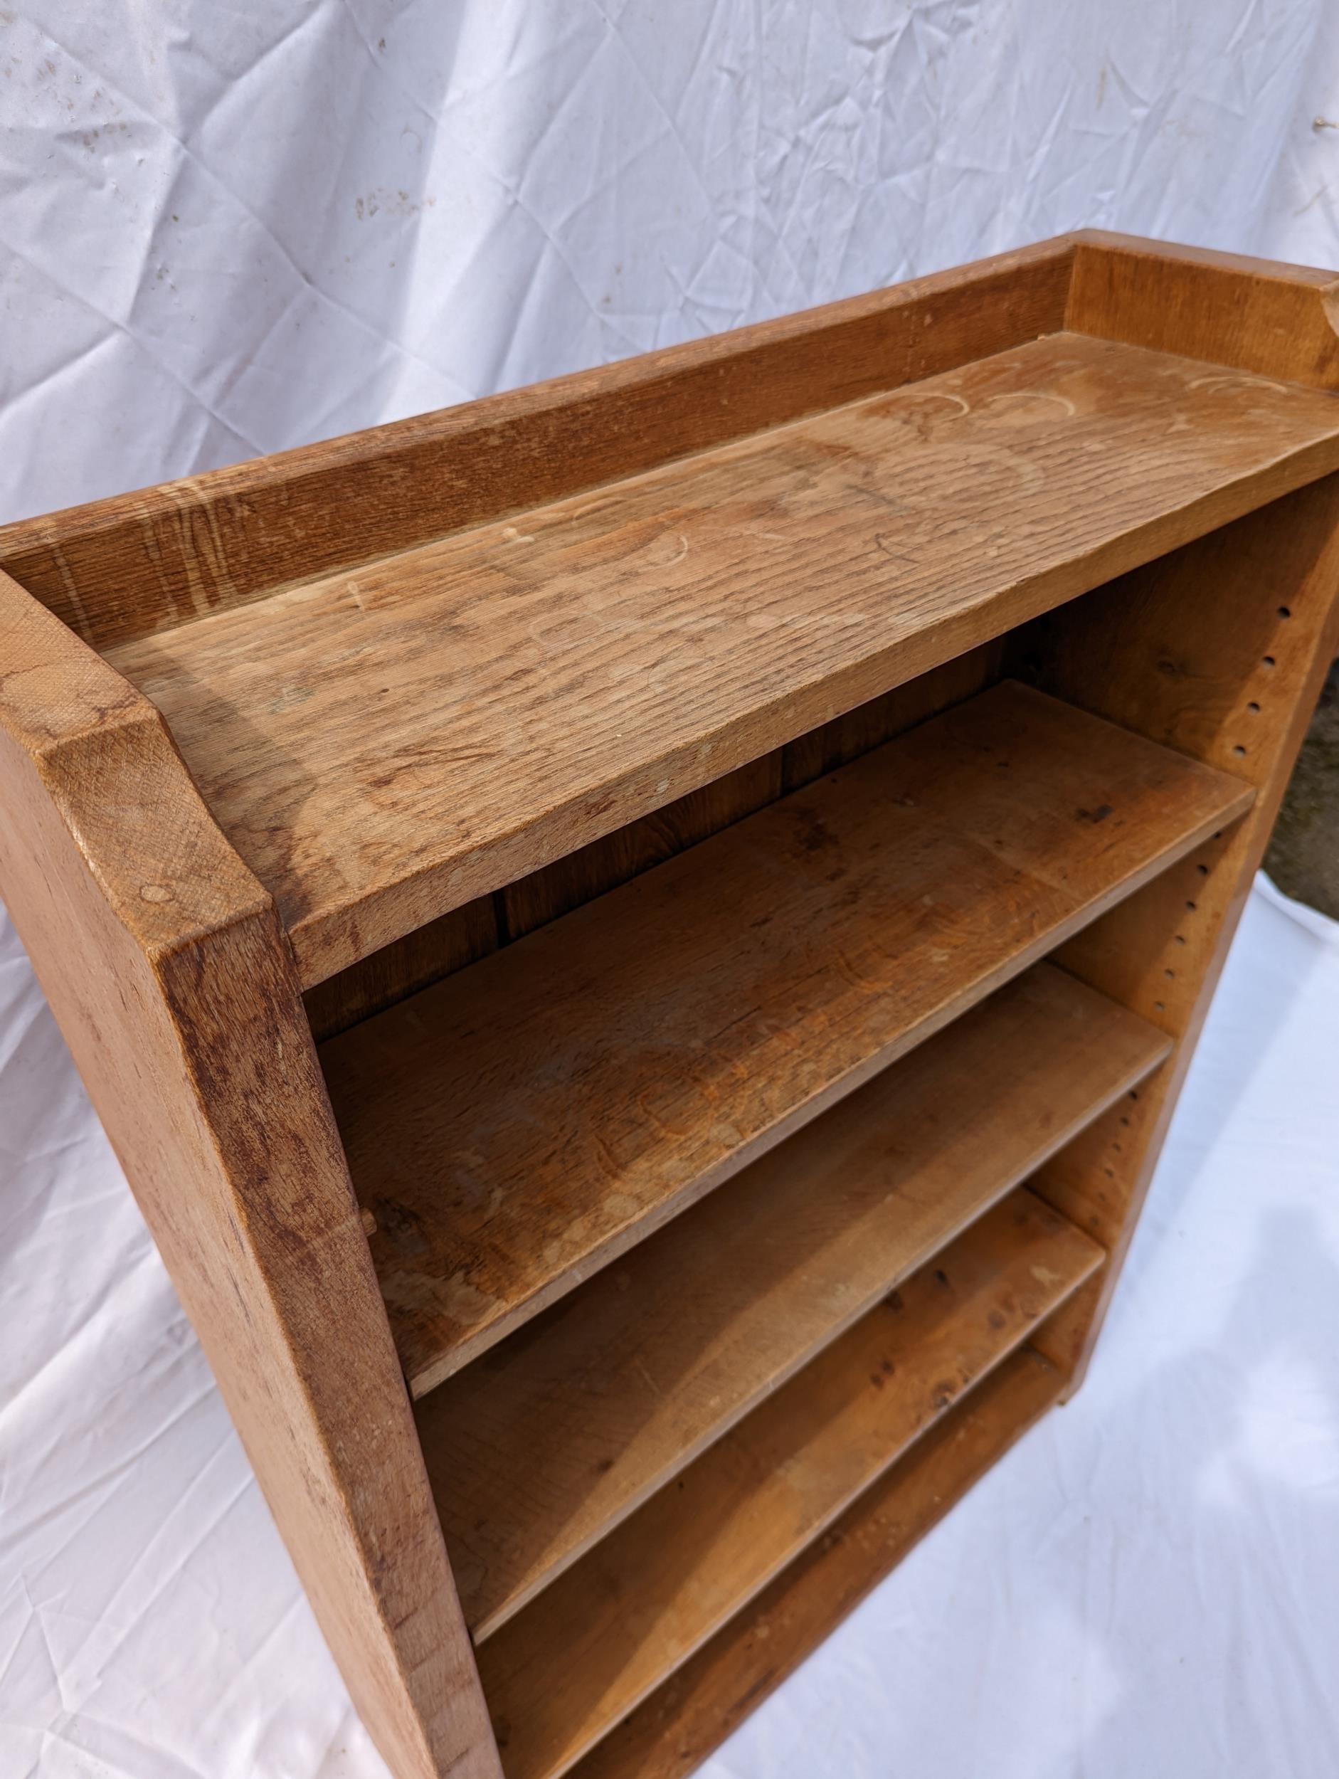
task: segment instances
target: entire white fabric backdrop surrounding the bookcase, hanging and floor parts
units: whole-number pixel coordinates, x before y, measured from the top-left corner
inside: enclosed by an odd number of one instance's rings
[[[1079,224],[1339,265],[1327,121],[1325,0],[20,0],[0,519]],[[1085,1393],[711,1779],[1339,1770],[1337,1007],[1257,893]],[[0,1169],[0,1774],[384,1775],[9,929]]]

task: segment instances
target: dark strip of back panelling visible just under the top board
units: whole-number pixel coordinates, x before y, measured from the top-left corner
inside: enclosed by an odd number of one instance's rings
[[[469,902],[418,932],[373,952],[304,994],[320,1041],[393,1007],[443,977],[558,920],[583,902],[663,865],[825,772],[903,735],[999,678],[1003,639],[958,655],[836,722],[615,829],[605,840],[548,865],[493,897]]]

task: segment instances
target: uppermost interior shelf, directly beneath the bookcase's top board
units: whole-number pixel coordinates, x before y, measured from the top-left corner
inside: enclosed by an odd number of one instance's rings
[[[1005,683],[324,1044],[414,1395],[1250,799]]]

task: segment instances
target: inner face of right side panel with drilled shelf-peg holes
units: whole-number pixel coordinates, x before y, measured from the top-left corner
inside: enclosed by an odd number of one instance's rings
[[[1037,1178],[1037,1190],[1113,1256],[1047,1329],[1044,1350],[1074,1382],[1337,648],[1339,477],[1122,576],[1015,639],[1021,676],[1257,788],[1243,822],[1058,952],[1067,970],[1177,1046],[1158,1076]]]

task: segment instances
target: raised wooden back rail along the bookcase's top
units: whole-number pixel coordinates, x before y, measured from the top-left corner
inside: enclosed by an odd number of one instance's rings
[[[98,649],[1054,333],[1067,240],[0,528]]]

